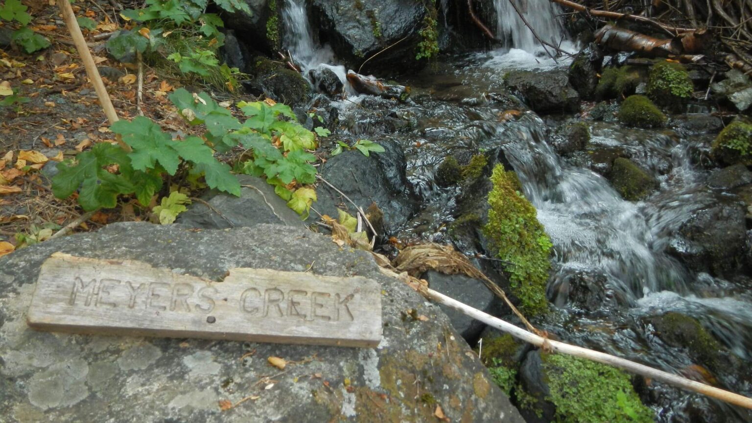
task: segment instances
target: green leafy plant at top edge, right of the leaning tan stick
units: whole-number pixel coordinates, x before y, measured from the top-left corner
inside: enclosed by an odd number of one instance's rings
[[[215,2],[223,11],[244,11],[245,2]],[[217,14],[206,13],[208,0],[147,0],[147,8],[128,9],[122,16],[141,23],[131,31],[121,31],[110,38],[108,51],[121,61],[132,61],[135,53],[180,76],[186,83],[199,80],[220,90],[232,91],[238,84],[238,68],[219,65],[217,50],[223,45],[224,26]]]

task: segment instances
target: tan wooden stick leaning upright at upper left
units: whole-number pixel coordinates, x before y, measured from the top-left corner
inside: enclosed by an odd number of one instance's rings
[[[73,43],[76,46],[76,50],[78,50],[78,55],[81,56],[81,60],[83,61],[83,67],[86,68],[86,75],[89,76],[89,80],[94,86],[96,96],[99,99],[99,104],[102,105],[107,120],[110,121],[110,124],[117,122],[120,118],[117,117],[117,111],[115,111],[115,108],[112,105],[110,95],[107,93],[107,88],[105,88],[105,83],[102,82],[102,77],[99,75],[99,70],[96,68],[96,63],[94,63],[92,53],[89,51],[89,47],[86,46],[86,40],[83,39],[83,34],[78,26],[76,15],[73,13],[73,8],[71,8],[71,3],[68,2],[68,0],[57,0],[57,6],[62,12],[62,18],[65,20],[65,25],[68,26],[68,32],[71,33],[71,38],[73,38]],[[123,142],[120,135],[117,136],[117,143],[120,145],[120,148],[123,148],[123,150],[131,151],[130,146]]]

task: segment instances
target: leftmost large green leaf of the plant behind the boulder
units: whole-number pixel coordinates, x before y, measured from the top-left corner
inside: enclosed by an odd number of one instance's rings
[[[117,145],[101,142],[89,151],[77,156],[77,164],[60,163],[59,172],[53,177],[53,193],[58,198],[71,196],[79,187],[78,202],[84,210],[112,208],[117,205],[119,194],[132,193],[133,169],[130,160]],[[108,172],[117,165],[117,173]]]

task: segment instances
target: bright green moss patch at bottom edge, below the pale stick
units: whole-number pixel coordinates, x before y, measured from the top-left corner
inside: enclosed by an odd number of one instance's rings
[[[544,374],[557,421],[652,423],[653,412],[621,370],[571,355],[544,355]]]

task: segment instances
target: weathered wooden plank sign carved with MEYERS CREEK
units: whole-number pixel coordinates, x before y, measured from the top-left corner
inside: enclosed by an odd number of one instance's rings
[[[361,276],[248,268],[214,282],[56,253],[41,267],[28,322],[77,333],[373,347],[381,286]]]

